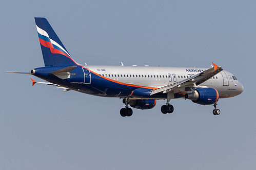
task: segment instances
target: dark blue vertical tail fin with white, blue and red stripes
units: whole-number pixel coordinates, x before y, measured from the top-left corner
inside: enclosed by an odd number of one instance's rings
[[[77,65],[46,18],[35,18],[45,66]]]

